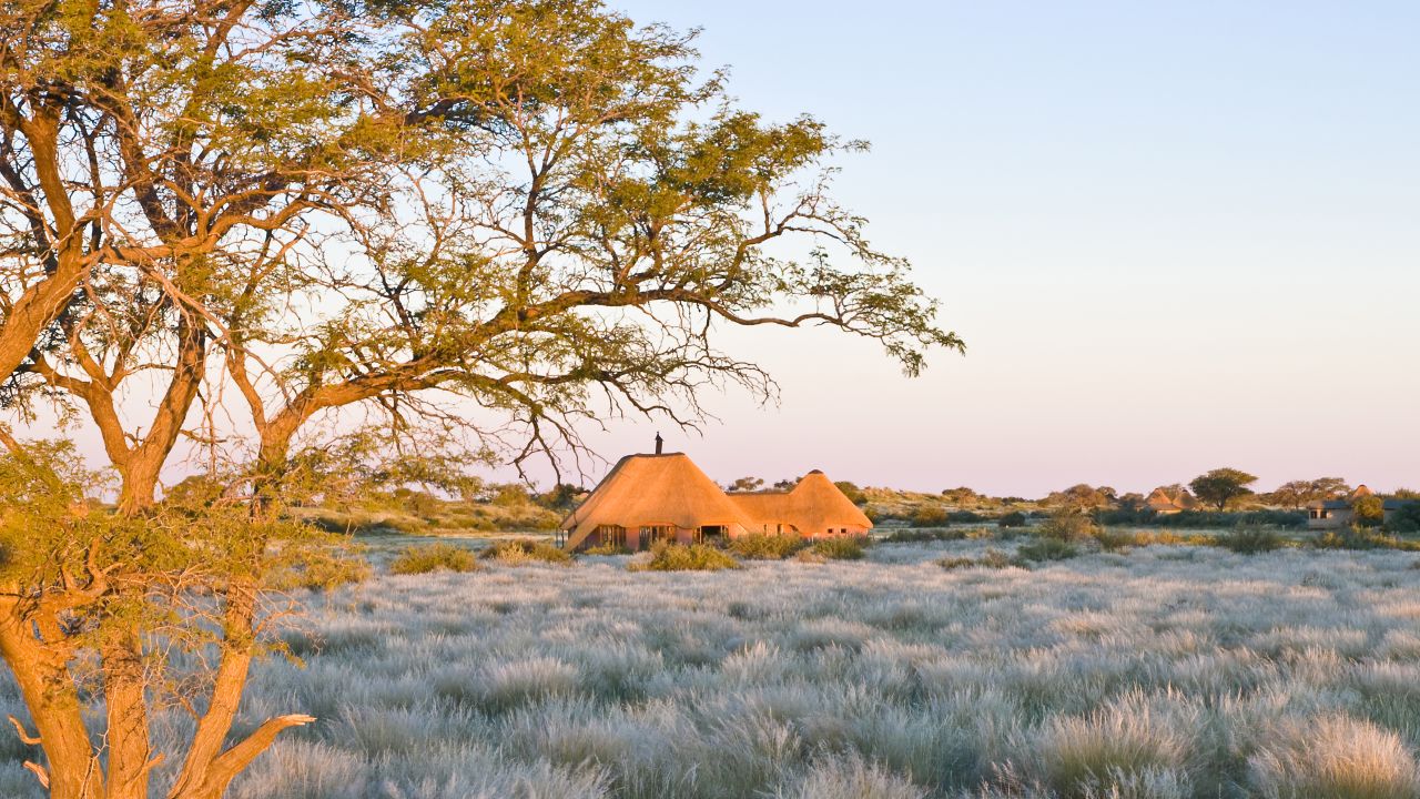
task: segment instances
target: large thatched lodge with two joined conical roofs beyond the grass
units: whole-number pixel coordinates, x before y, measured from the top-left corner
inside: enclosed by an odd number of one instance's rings
[[[562,547],[648,549],[717,543],[747,533],[863,536],[873,523],[824,472],[790,490],[726,493],[680,452],[628,455],[562,520]]]

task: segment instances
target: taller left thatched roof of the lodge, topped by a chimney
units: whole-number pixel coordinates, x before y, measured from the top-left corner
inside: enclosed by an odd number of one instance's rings
[[[575,547],[599,525],[682,529],[744,526],[744,512],[682,452],[628,455],[562,520],[567,547]]]

